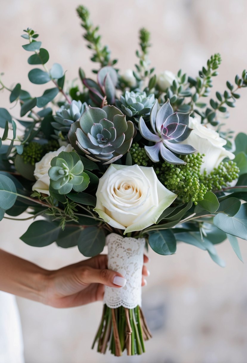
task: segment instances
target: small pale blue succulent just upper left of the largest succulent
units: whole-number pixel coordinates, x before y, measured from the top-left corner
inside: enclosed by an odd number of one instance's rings
[[[68,132],[72,123],[79,120],[86,107],[86,102],[81,103],[81,101],[75,100],[63,105],[58,111],[56,111],[56,116],[53,116],[56,122],[51,122],[51,125],[56,130]]]

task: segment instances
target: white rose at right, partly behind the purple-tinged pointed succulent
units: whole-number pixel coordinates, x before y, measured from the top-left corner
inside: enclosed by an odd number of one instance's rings
[[[205,154],[204,162],[201,166],[201,174],[205,169],[209,174],[225,158],[230,160],[235,158],[232,152],[223,147],[226,144],[226,140],[221,138],[218,132],[206,125],[202,125],[197,118],[192,117],[189,118],[189,127],[193,130],[189,137],[181,144],[189,144],[201,154]]]

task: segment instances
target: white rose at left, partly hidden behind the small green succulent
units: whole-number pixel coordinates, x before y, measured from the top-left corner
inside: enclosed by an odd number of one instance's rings
[[[47,152],[47,154],[45,154],[38,163],[35,163],[34,176],[35,179],[37,179],[37,181],[33,185],[32,189],[36,190],[37,192],[50,195],[49,193],[50,177],[48,175],[48,170],[51,167],[51,160],[55,158],[55,156],[58,156],[58,154],[60,154],[61,151],[70,152],[72,150],[74,149],[72,148],[71,144],[68,144],[66,147],[61,146],[56,151]]]

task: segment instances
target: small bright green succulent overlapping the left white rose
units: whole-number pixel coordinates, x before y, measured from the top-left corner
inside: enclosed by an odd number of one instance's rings
[[[82,192],[89,184],[89,176],[83,169],[83,163],[76,152],[60,152],[51,160],[48,171],[50,188],[59,194],[67,194],[72,189]]]

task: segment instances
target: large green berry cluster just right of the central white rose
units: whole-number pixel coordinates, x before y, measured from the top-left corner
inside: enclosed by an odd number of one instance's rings
[[[184,203],[192,200],[197,205],[208,191],[205,185],[199,180],[200,168],[203,156],[200,153],[181,156],[186,164],[172,165],[163,162],[155,167],[158,179],[166,185],[167,189],[173,191]]]

